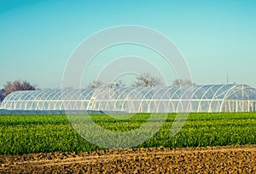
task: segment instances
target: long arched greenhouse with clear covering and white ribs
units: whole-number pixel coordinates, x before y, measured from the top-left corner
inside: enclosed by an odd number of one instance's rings
[[[125,113],[253,112],[256,111],[256,89],[245,84],[209,84],[23,90],[7,96],[0,108]]]

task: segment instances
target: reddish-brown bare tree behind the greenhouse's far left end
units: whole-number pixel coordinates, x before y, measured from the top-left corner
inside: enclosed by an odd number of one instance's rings
[[[27,81],[19,81],[16,80],[14,82],[7,82],[3,85],[4,87],[4,96],[9,95],[11,92],[17,91],[17,90],[36,90],[36,85],[31,84]]]

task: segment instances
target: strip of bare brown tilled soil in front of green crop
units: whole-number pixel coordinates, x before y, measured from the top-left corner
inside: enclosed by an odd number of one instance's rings
[[[0,173],[256,173],[256,145],[0,156]]]

